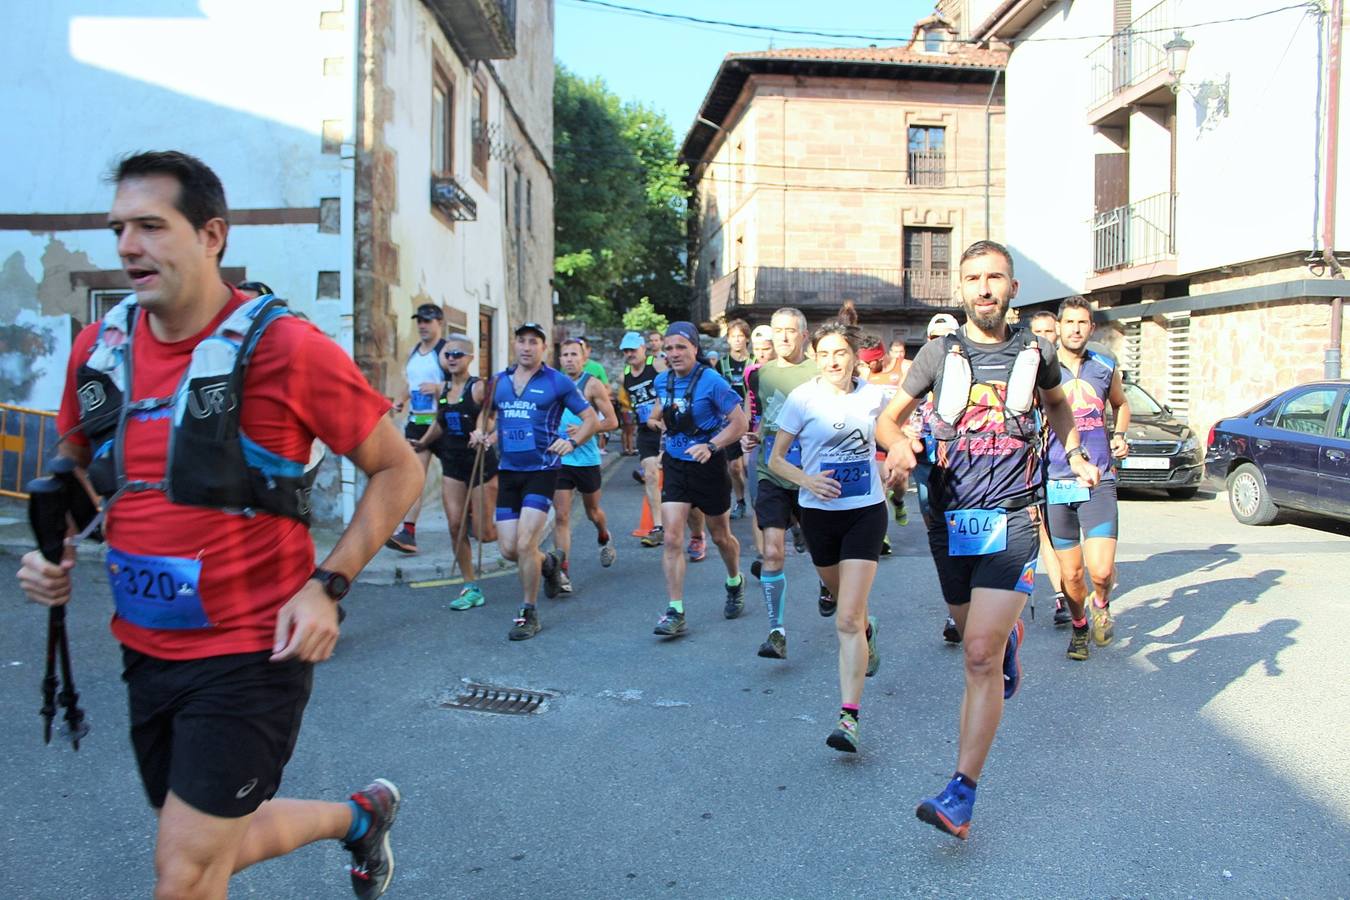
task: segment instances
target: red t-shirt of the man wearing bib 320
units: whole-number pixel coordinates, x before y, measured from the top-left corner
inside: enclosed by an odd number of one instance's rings
[[[238,291],[200,333],[181,341],[155,337],[138,313],[132,352],[131,398],[169,397],[182,381],[192,351],[246,297]],[[78,426],[76,371],[89,356],[99,324],[76,337],[66,370],[66,389],[57,422],[62,432]],[[377,394],[355,363],[315,325],[286,316],[267,329],[248,363],[240,428],[274,453],[309,460],[315,437],[346,455],[371,433],[389,401]],[[163,479],[169,455],[171,407],[127,418],[127,478]],[[88,445],[82,432],[68,437]],[[212,460],[201,460],[211,466]],[[315,569],[309,529],[296,519],[258,513],[248,518],[204,506],[170,503],[161,491],[123,494],[104,524],[108,544],[126,553],[201,560],[198,594],[212,627],[144,629],[113,617],[113,636],[142,653],[166,660],[193,660],[271,649],[277,611]]]

